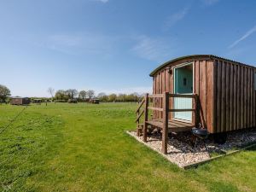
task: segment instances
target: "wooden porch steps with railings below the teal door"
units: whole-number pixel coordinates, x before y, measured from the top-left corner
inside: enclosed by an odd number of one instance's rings
[[[192,108],[173,108],[172,102],[170,103],[170,98],[181,97],[181,98],[191,98],[192,99]],[[161,107],[155,107],[156,98],[160,98],[162,101]],[[143,136],[143,141],[147,142],[147,135],[153,131],[160,131],[162,133],[162,152],[167,153],[167,143],[168,143],[168,134],[171,132],[179,131],[190,131],[199,121],[199,110],[198,110],[198,96],[195,94],[192,95],[178,95],[165,92],[163,94],[154,94],[146,96],[143,98],[142,102],[139,103],[139,106],[136,110],[136,123],[137,123],[137,137]],[[148,106],[149,100],[152,100],[153,107]],[[148,119],[148,110],[154,112],[160,112],[161,119]],[[169,113],[174,112],[193,112],[192,121],[183,121],[180,119],[169,118]],[[143,117],[143,120],[141,118]]]

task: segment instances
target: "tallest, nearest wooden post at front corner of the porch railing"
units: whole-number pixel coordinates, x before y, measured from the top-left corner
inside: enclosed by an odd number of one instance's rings
[[[168,113],[169,113],[169,92],[165,92],[163,98],[163,129],[162,129],[162,152],[167,154],[168,144]]]

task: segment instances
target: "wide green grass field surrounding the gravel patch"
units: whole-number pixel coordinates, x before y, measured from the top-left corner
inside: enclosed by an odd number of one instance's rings
[[[183,171],[125,134],[137,104],[0,106],[0,191],[256,191],[256,148]]]

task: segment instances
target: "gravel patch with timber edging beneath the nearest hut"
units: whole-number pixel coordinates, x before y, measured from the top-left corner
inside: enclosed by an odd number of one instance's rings
[[[143,137],[137,137],[136,131],[128,131],[128,134],[143,143]],[[161,153],[162,140],[160,134],[148,135],[148,142],[144,144],[159,152],[166,159],[177,164],[177,166],[184,167],[204,160],[210,160],[212,153],[228,152],[229,150],[246,146],[249,143],[256,143],[256,130],[232,132],[228,135],[227,142],[223,145],[213,143],[210,137],[207,139],[209,151],[207,151],[201,141],[198,142],[196,148],[194,148],[191,141],[191,133],[189,132],[169,137],[167,154]]]

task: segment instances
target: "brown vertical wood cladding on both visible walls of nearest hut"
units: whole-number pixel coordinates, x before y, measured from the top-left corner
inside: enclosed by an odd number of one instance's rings
[[[193,91],[199,96],[201,125],[211,133],[256,127],[255,67],[217,58],[174,61],[154,74],[153,93],[173,93],[173,69],[186,62],[193,63]],[[170,108],[172,102],[170,98]],[[154,99],[154,106],[163,107],[160,98]],[[162,113],[154,112],[153,117],[162,119]]]

